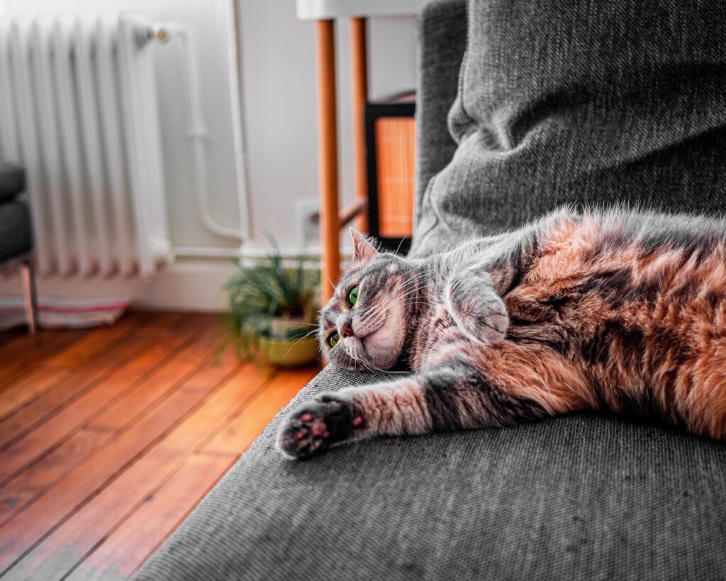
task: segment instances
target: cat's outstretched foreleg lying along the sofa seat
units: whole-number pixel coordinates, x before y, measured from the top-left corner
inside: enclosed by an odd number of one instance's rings
[[[303,458],[370,434],[511,426],[587,407],[576,370],[547,357],[520,354],[507,343],[492,350],[484,372],[476,363],[452,361],[398,381],[321,394],[290,413],[280,451]]]

